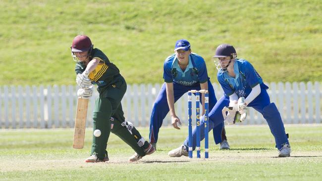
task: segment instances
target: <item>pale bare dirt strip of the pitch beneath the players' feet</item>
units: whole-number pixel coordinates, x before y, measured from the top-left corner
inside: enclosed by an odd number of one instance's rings
[[[195,156],[195,155],[194,155]],[[203,157],[203,154],[202,154]],[[278,158],[276,151],[258,152],[258,153],[231,153],[231,152],[216,152],[210,154],[209,159],[205,158],[187,158],[178,157],[171,158],[164,153],[158,153],[143,157],[137,162],[129,162],[128,157],[113,157],[108,162],[85,163],[84,159],[61,159],[61,160],[5,160],[2,159],[0,171],[33,171],[33,170],[60,170],[64,168],[77,169],[87,167],[105,167],[109,165],[119,164],[169,164],[169,163],[189,163],[189,162],[205,162],[216,163],[218,161],[227,163],[249,163],[249,162],[285,162],[294,159],[302,160],[301,158],[311,158],[322,161],[322,152],[292,152],[290,158]]]

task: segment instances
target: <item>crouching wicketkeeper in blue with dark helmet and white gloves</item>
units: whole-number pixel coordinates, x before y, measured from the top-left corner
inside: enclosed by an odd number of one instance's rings
[[[281,116],[274,103],[271,103],[267,93],[268,87],[263,83],[261,76],[256,72],[251,63],[244,59],[237,59],[235,48],[229,44],[219,45],[216,49],[215,58],[218,58],[217,79],[221,85],[222,96],[209,113],[209,129],[222,124],[223,121],[233,124],[236,114],[245,115],[246,106],[253,107],[266,119],[270,132],[275,138],[275,147],[279,150],[279,157],[289,157],[291,148],[288,135],[285,134]],[[244,97],[240,104],[238,99]],[[228,113],[223,118],[222,109],[229,107]],[[204,138],[203,123],[201,122],[201,139]],[[196,143],[193,142],[193,149]],[[188,155],[188,138],[184,144],[169,152],[171,156]]]

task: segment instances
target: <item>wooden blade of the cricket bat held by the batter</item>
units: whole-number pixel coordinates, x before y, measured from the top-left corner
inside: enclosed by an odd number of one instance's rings
[[[73,140],[73,148],[75,149],[84,147],[87,106],[88,99],[78,98]]]

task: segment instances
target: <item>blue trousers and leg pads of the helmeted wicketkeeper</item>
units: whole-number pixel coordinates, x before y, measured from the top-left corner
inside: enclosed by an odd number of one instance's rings
[[[224,106],[228,107],[229,105],[229,97],[222,96],[213,109],[209,113],[209,130],[213,129],[216,126],[220,126],[223,124],[223,116],[222,109]],[[267,90],[262,89],[261,93],[247,105],[248,107],[253,107],[255,110],[260,112],[264,118],[266,119],[270,132],[275,138],[275,147],[277,149],[281,149],[285,143],[289,144],[288,138],[285,134],[284,124],[280,117],[280,114],[274,103],[270,103],[269,95]],[[200,123],[200,140],[205,138],[205,119],[203,118]],[[196,148],[196,129],[193,130],[192,136],[192,149]],[[183,144],[186,146],[186,150],[188,150],[189,137],[187,136],[186,140]]]

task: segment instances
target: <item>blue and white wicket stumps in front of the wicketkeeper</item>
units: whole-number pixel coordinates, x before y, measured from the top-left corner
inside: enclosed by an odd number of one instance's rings
[[[209,108],[209,94],[208,90],[189,90],[188,91],[188,135],[189,135],[189,158],[192,158],[192,93],[196,95],[196,150],[197,158],[200,156],[200,95],[205,94],[205,158],[209,158],[209,145],[208,145],[208,108]],[[200,94],[201,93],[201,94]],[[201,111],[202,112],[202,111]],[[202,113],[201,113],[202,114]]]

